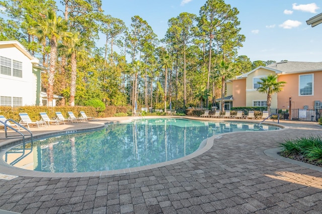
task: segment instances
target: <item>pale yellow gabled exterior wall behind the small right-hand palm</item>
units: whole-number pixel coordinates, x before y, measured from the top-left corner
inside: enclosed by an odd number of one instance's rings
[[[250,73],[246,79],[246,106],[253,106],[253,101],[257,100],[267,100],[267,94],[266,93],[260,93],[257,91],[257,89],[254,89],[253,87],[253,78],[261,78],[266,77],[270,74],[275,75],[275,72],[266,70],[264,68],[260,68],[252,73]],[[274,94],[272,96],[272,109],[277,108],[277,95]]]

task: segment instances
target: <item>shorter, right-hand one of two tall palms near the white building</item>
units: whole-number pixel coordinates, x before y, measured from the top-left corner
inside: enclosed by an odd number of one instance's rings
[[[69,104],[70,106],[75,105],[75,93],[76,93],[76,79],[77,79],[77,58],[84,58],[87,56],[87,47],[86,40],[81,38],[79,32],[73,33],[71,37],[67,36],[64,38],[66,41],[64,44],[59,46],[64,49],[67,55],[70,57],[70,67],[71,67],[71,75],[70,75],[70,97]]]

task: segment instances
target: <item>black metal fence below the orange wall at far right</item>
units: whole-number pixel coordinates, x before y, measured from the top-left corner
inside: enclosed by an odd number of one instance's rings
[[[292,109],[291,117],[288,110],[271,109],[271,114],[279,114],[281,120],[316,121],[322,116],[322,109]]]

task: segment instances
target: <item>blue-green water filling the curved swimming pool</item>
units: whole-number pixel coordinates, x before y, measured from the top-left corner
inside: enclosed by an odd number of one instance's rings
[[[25,148],[20,145],[7,151],[5,160],[17,167],[43,172],[125,169],[187,156],[213,135],[277,129],[242,122],[143,119],[111,124],[94,132],[34,141]]]

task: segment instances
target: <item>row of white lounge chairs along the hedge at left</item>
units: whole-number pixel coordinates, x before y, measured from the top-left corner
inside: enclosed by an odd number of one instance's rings
[[[84,122],[90,119],[94,119],[93,117],[88,117],[84,111],[81,111],[80,113],[81,113],[81,117],[75,117],[73,112],[68,112],[69,117],[68,119],[65,119],[64,116],[61,114],[61,112],[56,112],[57,117],[50,119],[47,113],[41,112],[40,121],[32,121],[27,113],[19,113],[19,116],[21,118],[19,124],[21,126],[27,126],[28,129],[30,129],[29,125],[36,125],[39,128],[41,126],[45,126],[45,127],[50,126],[50,124],[59,125],[59,123],[65,124],[65,122],[71,122],[71,123]],[[2,122],[2,123],[0,122],[0,126],[5,126],[6,124],[7,126],[16,127],[18,130],[20,130],[18,124],[11,123],[10,120],[7,120],[3,115],[0,115],[0,121]]]

